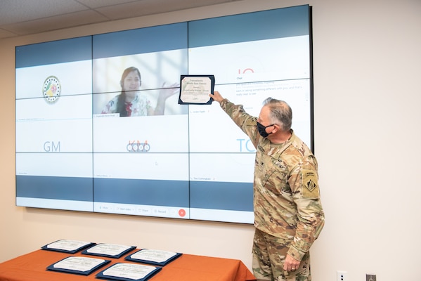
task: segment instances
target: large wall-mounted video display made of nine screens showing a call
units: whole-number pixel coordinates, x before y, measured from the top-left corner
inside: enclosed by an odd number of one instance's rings
[[[255,149],[219,103],[180,105],[181,75],[259,115],[286,100],[312,147],[311,7],[17,46],[16,204],[253,223]]]

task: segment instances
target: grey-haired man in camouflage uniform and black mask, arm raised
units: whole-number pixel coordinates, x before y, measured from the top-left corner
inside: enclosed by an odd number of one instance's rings
[[[253,273],[257,280],[310,281],[309,249],[324,225],[317,161],[291,129],[292,110],[267,98],[259,118],[210,94],[249,136],[254,163]]]

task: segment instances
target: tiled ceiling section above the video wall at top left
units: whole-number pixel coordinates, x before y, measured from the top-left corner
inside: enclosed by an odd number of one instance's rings
[[[0,0],[0,39],[238,0]]]

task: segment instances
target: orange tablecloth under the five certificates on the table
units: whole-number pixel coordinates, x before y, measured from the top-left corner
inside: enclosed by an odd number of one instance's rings
[[[132,253],[132,252],[131,252]],[[84,254],[66,254],[57,251],[37,250],[15,259],[0,263],[1,281],[78,281],[96,280],[95,275],[114,263],[124,262],[110,259],[111,263],[99,268],[88,276],[71,273],[59,273],[46,270],[48,266],[67,256],[90,256]],[[127,256],[127,255],[126,255]],[[95,256],[91,256],[95,257]],[[104,258],[109,259],[109,258]],[[256,280],[250,270],[239,260],[221,259],[209,256],[183,254],[160,270],[150,281],[249,281]]]

